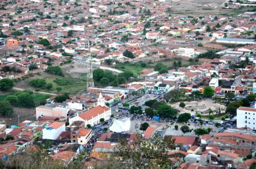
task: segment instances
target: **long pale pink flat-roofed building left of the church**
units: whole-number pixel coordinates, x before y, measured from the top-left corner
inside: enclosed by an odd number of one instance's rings
[[[68,117],[70,108],[58,106],[57,104],[46,104],[45,106],[38,106],[35,108],[36,119],[47,116],[47,117]]]

